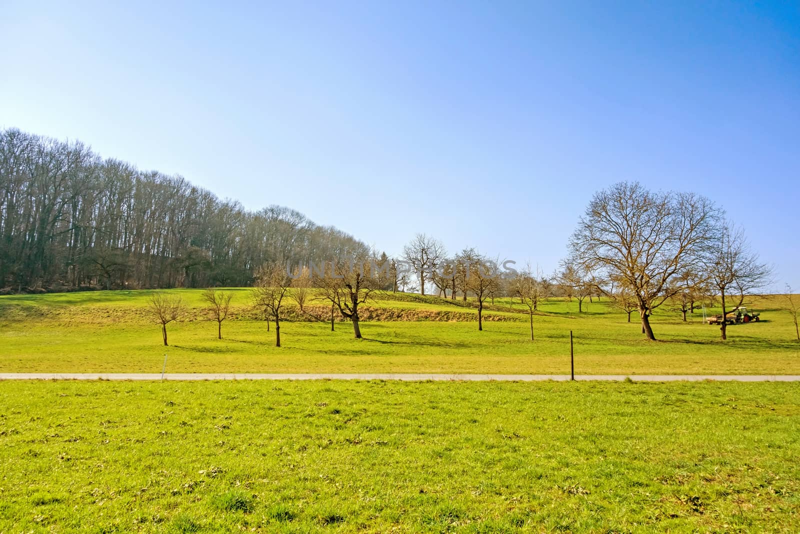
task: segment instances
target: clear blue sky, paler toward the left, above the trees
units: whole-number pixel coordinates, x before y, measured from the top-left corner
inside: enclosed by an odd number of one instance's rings
[[[118,3],[2,2],[0,127],[545,271],[598,188],[697,191],[800,290],[798,2]]]

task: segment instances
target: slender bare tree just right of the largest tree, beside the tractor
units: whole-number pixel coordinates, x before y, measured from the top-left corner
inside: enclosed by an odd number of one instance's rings
[[[736,304],[732,309],[742,306],[746,295],[771,282],[772,269],[765,263],[758,263],[758,255],[750,251],[742,228],[725,224],[706,258],[706,275],[722,299],[719,330],[724,340],[728,326],[726,304],[730,302],[726,299],[734,299]]]

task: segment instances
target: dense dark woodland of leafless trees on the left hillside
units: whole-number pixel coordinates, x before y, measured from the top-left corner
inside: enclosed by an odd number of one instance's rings
[[[297,211],[246,211],[80,142],[0,130],[0,289],[245,286],[264,263],[365,250]]]

